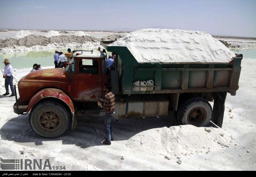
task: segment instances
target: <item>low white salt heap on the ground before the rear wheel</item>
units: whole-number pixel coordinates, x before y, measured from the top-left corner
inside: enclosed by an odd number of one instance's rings
[[[233,137],[220,128],[180,125],[140,132],[128,140],[127,147],[136,154],[175,157],[208,154],[229,147],[233,141]]]

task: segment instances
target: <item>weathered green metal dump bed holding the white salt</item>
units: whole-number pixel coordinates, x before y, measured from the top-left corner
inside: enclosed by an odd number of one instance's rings
[[[242,55],[229,63],[138,63],[127,47],[107,46],[108,52],[117,53],[116,70],[122,94],[161,94],[238,90]],[[134,87],[137,81],[153,80],[154,86]],[[138,83],[138,82],[137,82]],[[137,91],[136,91],[137,90]]]

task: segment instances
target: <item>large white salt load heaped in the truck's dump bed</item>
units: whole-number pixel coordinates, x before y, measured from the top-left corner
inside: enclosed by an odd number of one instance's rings
[[[200,31],[142,29],[109,46],[126,46],[139,63],[228,63],[235,53]]]

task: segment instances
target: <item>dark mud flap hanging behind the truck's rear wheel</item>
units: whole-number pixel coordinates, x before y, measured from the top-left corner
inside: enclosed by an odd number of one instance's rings
[[[218,125],[219,127],[222,127],[223,123],[226,97],[226,91],[218,91],[214,98],[212,122]]]

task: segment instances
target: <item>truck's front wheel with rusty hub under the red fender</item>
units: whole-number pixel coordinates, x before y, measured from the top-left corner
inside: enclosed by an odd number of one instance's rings
[[[71,128],[71,115],[66,106],[59,101],[42,101],[31,110],[29,123],[38,135],[56,138]]]

